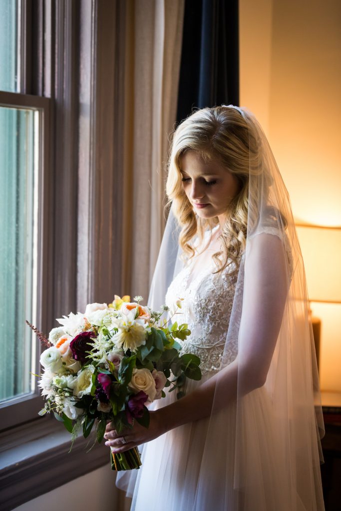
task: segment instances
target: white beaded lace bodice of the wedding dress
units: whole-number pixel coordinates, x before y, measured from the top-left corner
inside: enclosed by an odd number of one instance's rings
[[[181,353],[197,355],[203,375],[219,369],[237,282],[237,274],[231,275],[235,265],[213,274],[215,249],[207,248],[205,252],[200,270],[193,275],[194,264],[186,266],[174,278],[166,294],[166,305],[171,310],[176,300],[183,298],[173,322],[188,323],[191,336],[186,341],[179,341]],[[237,342],[228,347],[229,361],[237,356],[237,348]]]

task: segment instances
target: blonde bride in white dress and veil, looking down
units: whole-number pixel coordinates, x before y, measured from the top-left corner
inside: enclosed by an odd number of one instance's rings
[[[323,510],[323,420],[301,252],[276,161],[254,115],[195,111],[174,132],[171,204],[148,306],[181,298],[202,379],[120,435],[142,468],[119,473],[131,509]]]

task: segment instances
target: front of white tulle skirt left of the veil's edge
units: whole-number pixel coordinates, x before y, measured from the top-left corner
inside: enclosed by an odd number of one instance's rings
[[[203,377],[200,382],[189,380],[186,391],[191,392],[209,377]],[[175,392],[171,392],[157,405],[165,406],[174,399]],[[211,506],[215,511],[222,511],[229,508],[235,493],[235,408],[232,404],[230,413],[225,410],[223,416],[217,414],[214,419],[208,417],[185,424],[146,444],[142,468],[137,471],[131,511],[207,511]],[[226,417],[229,417],[227,422]],[[210,434],[214,435],[212,451],[205,449],[209,425]],[[230,455],[219,456],[226,449]],[[230,477],[230,503],[225,501],[225,474]]]

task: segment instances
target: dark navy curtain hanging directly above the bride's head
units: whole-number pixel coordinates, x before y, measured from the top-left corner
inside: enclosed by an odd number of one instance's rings
[[[238,0],[186,0],[177,121],[239,104]]]

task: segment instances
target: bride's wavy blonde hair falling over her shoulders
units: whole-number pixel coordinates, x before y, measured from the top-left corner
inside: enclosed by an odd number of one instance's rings
[[[226,167],[239,182],[237,195],[226,205],[226,220],[220,235],[222,251],[212,256],[217,266],[214,273],[232,263],[235,264],[234,271],[238,271],[238,258],[245,248],[247,221],[257,222],[257,212],[253,214],[248,211],[248,185],[250,174],[257,176],[262,173],[261,145],[245,119],[246,112],[244,115],[235,108],[225,106],[195,111],[173,132],[168,158],[167,205],[173,203],[174,215],[182,227],[179,245],[185,260],[195,255],[191,239],[198,235],[200,246],[205,231],[211,230],[212,237],[212,229],[219,220],[218,217],[202,219],[193,211],[181,181],[181,156],[186,151],[195,151],[205,162],[215,161]]]

